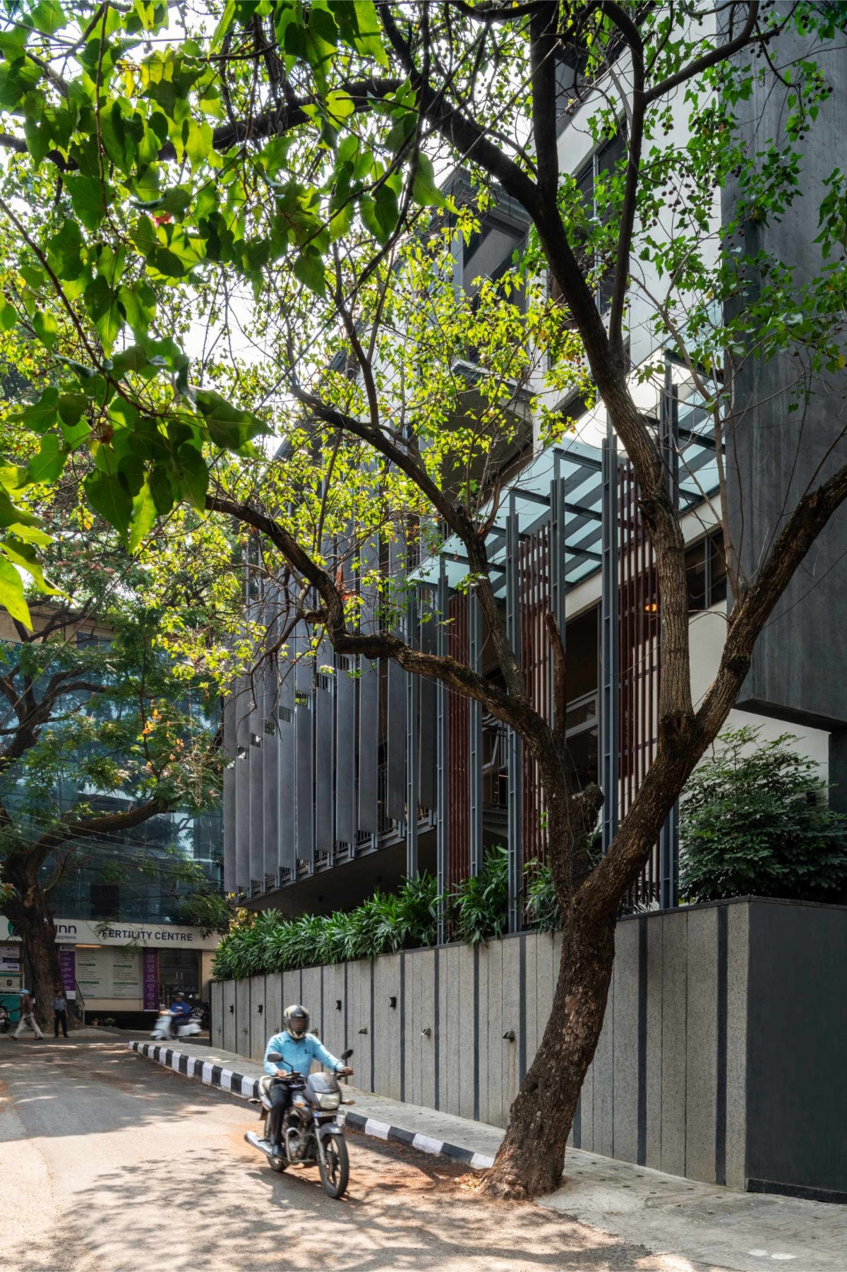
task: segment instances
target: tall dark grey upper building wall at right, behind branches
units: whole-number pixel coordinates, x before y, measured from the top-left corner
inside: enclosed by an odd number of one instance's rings
[[[808,53],[808,42],[780,37],[775,53],[785,64],[791,53]],[[820,270],[818,209],[825,193],[823,179],[836,167],[847,169],[847,57],[838,48],[814,55],[833,88],[816,123],[802,141],[799,197],[781,221],[748,223],[734,244],[747,252],[766,251],[792,266],[797,284]],[[785,126],[787,90],[766,76],[754,81],[749,102],[739,103],[743,134],[752,150],[764,151],[769,137]],[[725,223],[734,215],[736,190],[724,191]],[[747,279],[750,295],[761,280]],[[736,375],[735,424],[727,435],[730,525],[745,571],[753,574],[762,552],[780,533],[785,513],[815,477],[827,477],[847,463],[844,379],[816,378],[819,391],[808,408],[788,412],[791,387],[800,360],[786,356],[764,364],[754,356]],[[834,450],[823,463],[828,448]],[[818,473],[819,464],[823,463]],[[847,677],[843,674],[841,633],[847,630],[847,509],[841,509],[809,552],[804,567],[777,605],[775,618],[759,637],[753,667],[739,706],[828,728],[847,722]],[[838,780],[842,780],[841,777]]]

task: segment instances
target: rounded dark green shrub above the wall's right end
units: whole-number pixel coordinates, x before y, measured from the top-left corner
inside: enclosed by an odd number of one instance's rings
[[[683,794],[680,897],[847,897],[846,819],[827,806],[818,766],[794,742],[759,743],[752,728],[717,739]]]

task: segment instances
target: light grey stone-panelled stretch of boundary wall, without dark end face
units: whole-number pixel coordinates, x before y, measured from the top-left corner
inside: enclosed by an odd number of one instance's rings
[[[744,1187],[748,908],[621,921],[577,1147]],[[505,1126],[544,1032],[560,954],[561,935],[529,932],[477,950],[446,945],[215,985],[212,1042],[237,1039],[259,1058],[284,1004],[304,1001],[336,1054],[355,1048],[357,1085]]]

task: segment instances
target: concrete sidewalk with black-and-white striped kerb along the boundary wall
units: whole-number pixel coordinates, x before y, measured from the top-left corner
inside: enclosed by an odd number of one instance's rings
[[[178,1047],[132,1040],[130,1049],[249,1099],[262,1066],[214,1047]],[[499,1127],[401,1104],[348,1088],[351,1127],[383,1140],[411,1144],[425,1152],[483,1168],[502,1140]],[[666,1258],[668,1268],[692,1272],[757,1272],[788,1264],[797,1272],[847,1269],[847,1207],[734,1192],[665,1175],[646,1166],[571,1149],[562,1187],[539,1205],[600,1231],[646,1245]]]

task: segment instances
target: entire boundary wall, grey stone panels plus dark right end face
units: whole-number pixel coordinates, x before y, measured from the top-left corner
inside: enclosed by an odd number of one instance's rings
[[[446,945],[215,983],[212,1044],[258,1060],[284,1006],[305,1002],[333,1053],[354,1048],[357,1086],[505,1126],[549,1015],[560,951],[561,935],[527,932],[476,950]],[[847,1199],[838,1149],[847,1096],[837,1089],[846,977],[847,909],[738,899],[621,920],[574,1145],[739,1188],[748,1177],[750,1187],[780,1183],[797,1159],[791,1189],[843,1189]],[[795,1018],[804,1030],[788,1028]],[[815,1020],[823,1040],[813,1046]],[[775,1099],[778,1135],[767,1131]],[[836,1128],[828,1112],[842,1105]],[[752,1130],[748,1108],[758,1110]]]

